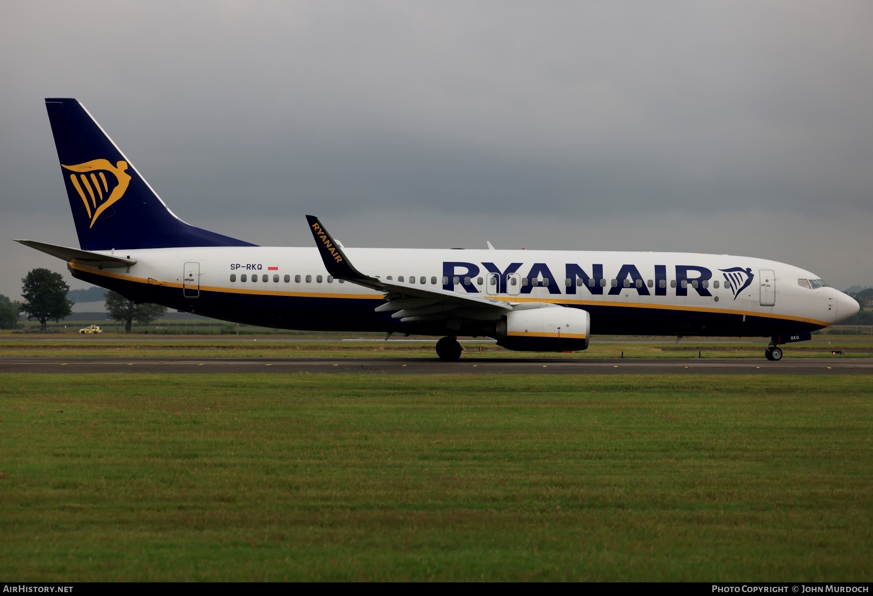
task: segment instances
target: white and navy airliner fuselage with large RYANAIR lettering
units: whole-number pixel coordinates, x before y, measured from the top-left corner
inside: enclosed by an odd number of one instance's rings
[[[147,295],[143,299],[158,297],[160,300],[155,301],[178,310],[220,319],[257,321],[258,313],[251,309],[277,305],[285,309],[283,312],[296,309],[299,317],[279,317],[277,325],[275,318],[265,316],[263,325],[337,330],[336,321],[348,320],[342,311],[351,309],[364,316],[384,302],[380,293],[330,277],[315,248],[203,247],[116,250],[113,254],[135,259],[136,264],[104,270],[84,264],[71,267],[77,277],[94,283],[132,288],[126,295],[141,288]],[[813,280],[815,285],[818,279],[812,272],[753,257],[675,252],[362,248],[346,249],[346,254],[359,271],[382,279],[390,277],[406,283],[412,279],[414,284],[512,303],[533,301],[583,308],[592,312],[595,330],[599,318],[615,319],[615,324],[601,327],[600,332],[629,332],[622,331],[619,319],[627,319],[635,312],[645,313],[634,319],[636,333],[665,332],[666,324],[647,329],[645,321],[670,314],[697,321],[685,324],[670,319],[670,325],[680,325],[675,332],[683,332],[681,325],[691,325],[686,330],[689,334],[702,335],[720,329],[714,324],[707,329],[707,319],[700,318],[705,315],[742,316],[743,321],[746,316],[758,321],[772,319],[779,321],[782,329],[789,329],[794,322],[807,330],[833,325],[857,312],[856,302],[841,291],[826,286],[807,287],[808,281],[803,280]],[[490,275],[491,271],[497,273]],[[183,288],[186,275],[187,291]],[[731,279],[732,284],[728,283]],[[155,294],[158,289],[160,292]],[[266,298],[272,299],[265,302]],[[221,308],[210,308],[210,302],[220,303]],[[232,314],[234,305],[239,316]],[[323,317],[333,309],[339,319],[325,319],[321,325],[313,319],[300,323],[307,308],[313,317]],[[619,312],[629,315],[616,317]],[[756,328],[747,334],[769,333]]]

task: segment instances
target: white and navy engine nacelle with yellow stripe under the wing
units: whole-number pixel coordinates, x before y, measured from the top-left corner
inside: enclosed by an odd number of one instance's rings
[[[508,313],[497,325],[498,346],[519,352],[565,352],[588,348],[591,316],[567,306]]]

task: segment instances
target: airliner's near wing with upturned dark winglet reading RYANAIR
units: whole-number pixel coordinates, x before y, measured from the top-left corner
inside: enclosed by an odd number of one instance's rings
[[[321,260],[327,272],[337,279],[362,285],[385,294],[387,304],[376,307],[376,312],[394,312],[393,319],[402,322],[436,319],[496,320],[512,305],[505,300],[483,298],[472,294],[443,290],[433,286],[404,284],[401,282],[364,275],[348,260],[340,245],[333,240],[318,217],[306,216],[309,228],[315,237]]]

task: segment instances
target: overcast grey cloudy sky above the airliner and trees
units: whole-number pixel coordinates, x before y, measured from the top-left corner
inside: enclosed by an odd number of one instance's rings
[[[0,293],[78,245],[42,99],[189,223],[689,250],[873,284],[873,4],[0,3]],[[73,281],[73,287],[82,284]]]

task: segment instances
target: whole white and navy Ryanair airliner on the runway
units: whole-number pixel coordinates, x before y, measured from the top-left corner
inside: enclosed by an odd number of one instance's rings
[[[584,350],[594,334],[770,338],[849,319],[856,301],[761,258],[681,252],[344,247],[306,216],[314,247],[267,247],[183,222],[76,99],[45,99],[79,249],[18,240],[73,277],[138,303],[250,325],[490,337],[510,350]]]

